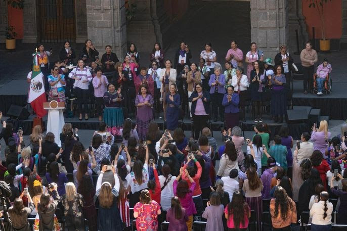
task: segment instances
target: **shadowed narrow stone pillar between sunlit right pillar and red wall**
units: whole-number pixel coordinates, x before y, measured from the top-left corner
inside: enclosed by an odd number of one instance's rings
[[[309,39],[306,30],[305,18],[302,15],[302,0],[289,0],[289,41],[288,48],[290,53],[296,51],[296,35],[295,30],[298,32],[299,37],[299,51],[303,48],[305,42]]]

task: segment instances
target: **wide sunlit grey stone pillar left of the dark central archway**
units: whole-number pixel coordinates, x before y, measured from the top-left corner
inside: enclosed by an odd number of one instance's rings
[[[86,0],[88,38],[93,41],[100,58],[106,45],[112,46],[120,60],[126,53],[124,4],[124,0]]]

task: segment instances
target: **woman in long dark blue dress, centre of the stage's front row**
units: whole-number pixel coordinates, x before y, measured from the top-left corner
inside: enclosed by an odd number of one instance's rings
[[[170,85],[170,94],[166,95],[166,127],[169,131],[175,130],[178,126],[181,105],[180,95],[176,93],[177,87],[175,83]]]

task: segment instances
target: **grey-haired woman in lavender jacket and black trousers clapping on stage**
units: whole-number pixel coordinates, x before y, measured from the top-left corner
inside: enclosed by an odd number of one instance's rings
[[[213,121],[218,120],[218,108],[220,112],[221,121],[224,122],[224,107],[222,106],[223,96],[225,90],[225,75],[222,74],[222,69],[219,67],[214,68],[214,74],[209,78],[208,85],[211,87],[209,94],[212,101]]]

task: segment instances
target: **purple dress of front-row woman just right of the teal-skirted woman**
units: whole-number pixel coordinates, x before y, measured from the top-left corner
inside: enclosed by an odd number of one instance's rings
[[[143,104],[145,101],[147,101],[151,105],[154,104],[152,96],[147,94],[145,98],[143,98],[142,95],[138,95],[135,100],[135,105]],[[143,105],[137,108],[136,124],[138,125],[138,134],[140,140],[146,140],[146,133],[148,131],[149,123],[152,120],[153,110],[151,107],[149,107],[148,105]]]

